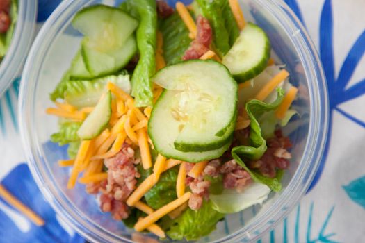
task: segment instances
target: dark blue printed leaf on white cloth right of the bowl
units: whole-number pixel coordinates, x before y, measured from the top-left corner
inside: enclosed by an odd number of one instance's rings
[[[295,12],[299,19],[303,22],[302,15],[300,12],[300,8],[298,8],[298,3],[296,0],[286,0],[286,3],[291,7],[291,9]],[[304,24],[304,23],[303,23]],[[332,117],[333,112],[336,110],[341,115],[350,119],[355,124],[362,126],[365,128],[365,122],[353,117],[348,114],[344,110],[339,108],[341,103],[346,101],[350,101],[351,99],[355,99],[359,96],[362,96],[365,93],[365,79],[357,82],[352,87],[349,87],[346,90],[346,86],[350,82],[350,78],[355,72],[355,69],[359,65],[359,61],[362,59],[365,53],[365,31],[357,38],[355,43],[352,45],[348,55],[343,61],[343,65],[340,68],[339,76],[335,77],[334,72],[334,48],[333,48],[333,15],[332,15],[332,1],[325,0],[323,4],[323,9],[321,12],[320,19],[320,43],[319,43],[319,53],[321,57],[321,61],[323,64],[323,69],[325,71],[328,93],[330,97],[330,124],[327,132],[327,144],[325,145],[325,150],[323,153],[323,158],[321,160],[321,164],[318,167],[318,171],[314,180],[309,187],[310,191],[318,182],[319,178],[321,178],[321,174],[323,168],[325,167],[325,162],[327,159],[328,150],[330,147],[330,139],[332,135]]]

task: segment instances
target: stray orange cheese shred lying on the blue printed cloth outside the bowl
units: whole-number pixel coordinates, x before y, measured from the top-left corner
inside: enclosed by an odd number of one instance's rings
[[[38,216],[33,210],[25,206],[21,201],[19,201],[15,196],[13,196],[8,190],[6,190],[3,185],[0,185],[0,196],[7,201],[11,206],[16,208],[19,212],[22,212],[28,219],[33,221],[37,226],[43,226],[44,220]]]

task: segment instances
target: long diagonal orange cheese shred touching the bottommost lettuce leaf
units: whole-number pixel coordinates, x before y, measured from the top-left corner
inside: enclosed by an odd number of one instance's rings
[[[178,199],[168,203],[167,205],[159,208],[158,210],[152,212],[152,214],[148,215],[144,219],[138,221],[134,226],[136,231],[143,231],[145,228],[154,224],[157,220],[161,219],[161,217],[167,215],[172,210],[175,210],[177,207],[184,204],[188,199],[190,199],[191,192],[186,192],[184,195],[180,196]]]

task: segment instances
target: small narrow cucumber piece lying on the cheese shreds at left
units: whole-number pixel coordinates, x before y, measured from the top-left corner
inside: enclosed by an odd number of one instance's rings
[[[81,124],[77,135],[81,140],[91,140],[97,137],[104,128],[108,125],[111,119],[111,92],[108,91],[106,95],[97,103],[94,110],[86,117],[83,124]]]

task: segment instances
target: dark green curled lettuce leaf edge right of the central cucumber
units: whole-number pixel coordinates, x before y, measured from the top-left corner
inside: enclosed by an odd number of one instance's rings
[[[241,167],[248,171],[254,181],[267,185],[275,192],[282,189],[282,184],[280,183],[282,173],[277,173],[276,178],[268,178],[257,171],[250,170],[244,161],[258,160],[265,153],[267,149],[266,140],[261,135],[261,127],[258,120],[264,112],[276,110],[280,103],[282,103],[283,96],[284,90],[279,88],[277,89],[277,99],[273,103],[264,103],[258,100],[251,100],[246,103],[246,110],[251,120],[250,146],[236,146],[232,149],[232,156],[238,165],[241,165]]]

